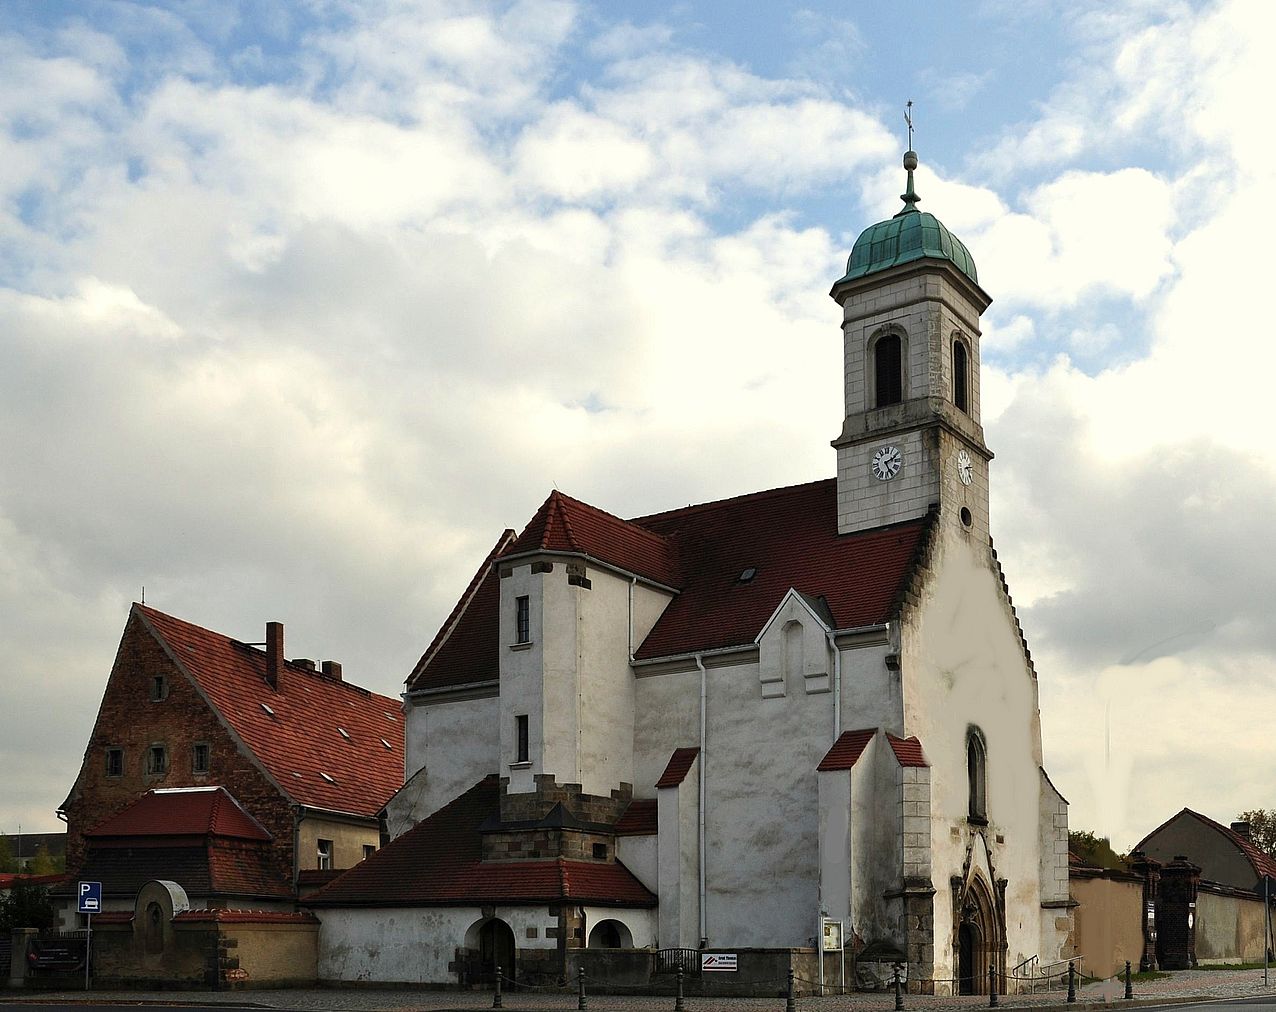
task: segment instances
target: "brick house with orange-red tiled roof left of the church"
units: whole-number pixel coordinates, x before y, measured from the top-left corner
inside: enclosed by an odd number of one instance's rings
[[[308,872],[379,846],[378,812],[403,782],[399,706],[342,680],[337,662],[286,660],[279,623],[254,644],[135,604],[59,809],[66,867],[93,864],[112,818],[154,791],[222,787],[268,837],[259,877],[296,896]]]

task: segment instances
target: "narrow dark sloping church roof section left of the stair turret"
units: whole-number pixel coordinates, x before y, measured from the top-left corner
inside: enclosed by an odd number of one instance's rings
[[[496,539],[434,642],[407,676],[410,692],[499,678],[500,577],[493,562],[513,544],[513,531],[504,531]]]

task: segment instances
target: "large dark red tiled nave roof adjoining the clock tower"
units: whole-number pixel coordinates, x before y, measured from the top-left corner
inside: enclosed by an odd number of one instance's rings
[[[753,643],[794,587],[823,597],[835,628],[886,621],[934,518],[838,535],[837,481],[827,479],[630,523],[676,545],[686,574],[635,652],[649,660]]]

